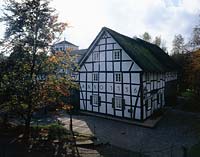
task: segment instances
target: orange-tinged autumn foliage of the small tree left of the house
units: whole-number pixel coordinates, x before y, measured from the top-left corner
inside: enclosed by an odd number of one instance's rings
[[[71,90],[77,89],[74,78],[71,77],[74,68],[78,68],[75,63],[76,57],[68,52],[57,52],[48,57],[46,64],[47,72],[45,81],[41,81],[40,98],[42,104],[53,104],[62,107],[69,103]]]

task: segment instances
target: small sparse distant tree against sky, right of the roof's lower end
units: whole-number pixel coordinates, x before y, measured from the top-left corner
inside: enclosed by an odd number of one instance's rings
[[[173,54],[183,54],[184,53],[184,38],[181,34],[175,35],[172,41],[172,53]]]

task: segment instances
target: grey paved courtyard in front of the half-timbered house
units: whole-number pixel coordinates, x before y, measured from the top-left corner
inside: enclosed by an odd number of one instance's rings
[[[69,117],[59,119],[69,126]],[[200,115],[178,110],[169,111],[155,128],[145,128],[94,116],[73,116],[74,131],[95,135],[104,143],[156,156],[182,157],[182,146],[189,148],[198,142],[195,130]]]

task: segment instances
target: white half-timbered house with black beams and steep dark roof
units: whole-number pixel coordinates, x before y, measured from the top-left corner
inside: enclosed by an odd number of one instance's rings
[[[158,46],[104,27],[80,61],[80,109],[145,120],[174,96],[176,79]]]

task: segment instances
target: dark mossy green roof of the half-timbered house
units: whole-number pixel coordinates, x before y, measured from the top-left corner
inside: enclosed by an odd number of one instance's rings
[[[127,37],[106,27],[103,27],[101,32],[108,32],[144,71],[165,72],[176,71],[179,68],[170,56],[155,44],[148,43],[139,38]],[[91,49],[93,44],[94,42],[89,49]],[[82,58],[80,66],[82,66],[87,57]]]

